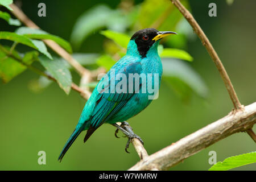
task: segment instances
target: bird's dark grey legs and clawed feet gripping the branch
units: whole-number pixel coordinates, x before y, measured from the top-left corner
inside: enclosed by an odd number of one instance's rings
[[[125,146],[125,151],[127,153],[130,153],[130,152],[127,151],[127,148],[129,148],[129,144],[131,142],[131,139],[137,138],[137,139],[139,139],[141,141],[142,144],[144,144],[144,142],[141,139],[141,137],[139,137],[138,135],[136,135],[133,132],[133,129],[131,128],[129,123],[127,123],[126,121],[122,122],[121,126],[117,125],[117,123],[114,123],[113,126],[117,127],[117,130],[115,130],[115,137],[117,137],[118,130],[121,130],[123,132],[123,134],[125,134],[126,137],[128,137],[128,142],[126,143],[126,146]],[[117,138],[119,138],[119,137],[117,137]]]

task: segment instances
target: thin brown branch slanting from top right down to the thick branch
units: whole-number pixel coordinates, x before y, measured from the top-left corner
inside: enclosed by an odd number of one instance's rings
[[[224,65],[221,63],[221,60],[218,57],[218,55],[217,55],[216,51],[214,50],[212,44],[210,43],[209,39],[204,34],[204,31],[201,29],[199,24],[193,18],[192,14],[189,13],[189,11],[180,3],[179,0],[171,0],[171,1],[177,7],[177,9],[179,9],[180,13],[183,14],[185,19],[187,19],[188,23],[191,24],[193,30],[199,36],[202,44],[207,49],[210,57],[212,57],[212,60],[213,60],[214,64],[216,65],[218,71],[220,72],[222,80],[224,81],[226,89],[228,90],[229,96],[233,102],[235,109],[242,109],[242,105],[241,105],[240,101],[238,100],[237,94],[233,88],[233,85],[232,85],[232,82],[230,81],[228,73],[226,72]]]

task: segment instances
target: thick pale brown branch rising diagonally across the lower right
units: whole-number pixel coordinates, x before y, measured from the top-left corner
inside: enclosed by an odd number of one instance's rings
[[[167,170],[229,135],[251,129],[256,123],[256,102],[205,126],[170,146],[141,160],[129,170]]]

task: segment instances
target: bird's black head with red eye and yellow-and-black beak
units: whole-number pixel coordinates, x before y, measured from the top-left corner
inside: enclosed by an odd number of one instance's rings
[[[155,28],[145,28],[135,32],[131,37],[137,44],[139,54],[142,57],[146,57],[148,49],[158,40],[162,39],[164,36],[176,34],[175,32],[163,31],[159,32]]]

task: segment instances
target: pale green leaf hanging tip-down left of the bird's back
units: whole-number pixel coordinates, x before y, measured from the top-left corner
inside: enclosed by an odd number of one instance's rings
[[[39,61],[49,74],[57,80],[60,88],[69,94],[72,85],[72,76],[69,69],[65,67],[64,60],[49,60],[46,56],[40,56]]]

